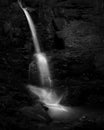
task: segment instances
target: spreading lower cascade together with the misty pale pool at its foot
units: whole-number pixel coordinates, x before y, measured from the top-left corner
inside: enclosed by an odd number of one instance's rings
[[[48,114],[53,119],[72,121],[79,119],[79,116],[83,113],[82,109],[62,105],[60,102],[62,101],[63,95],[58,96],[54,90],[32,85],[28,85],[27,88],[32,92],[33,96],[37,95],[39,97],[39,101],[48,108]]]

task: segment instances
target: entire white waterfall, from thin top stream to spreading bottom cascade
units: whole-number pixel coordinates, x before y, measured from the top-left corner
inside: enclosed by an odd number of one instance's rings
[[[49,108],[49,112],[52,115],[67,115],[68,114],[68,107],[65,107],[60,104],[60,101],[62,100],[62,96],[58,97],[53,91],[53,88],[51,88],[51,76],[49,71],[49,66],[47,62],[47,58],[44,53],[41,52],[39,47],[39,42],[36,36],[36,29],[35,25],[31,19],[31,16],[28,13],[27,8],[24,8],[20,1],[19,5],[21,9],[24,11],[31,33],[33,37],[33,43],[34,47],[36,49],[36,54],[33,56],[36,57],[38,69],[40,72],[40,78],[41,83],[44,88],[35,87],[32,85],[28,85],[29,90],[39,97],[39,101],[42,102],[46,107]]]

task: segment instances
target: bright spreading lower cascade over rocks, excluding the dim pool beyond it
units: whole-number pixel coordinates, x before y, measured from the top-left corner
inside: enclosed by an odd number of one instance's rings
[[[39,97],[52,116],[66,116],[69,113],[69,108],[60,104],[62,96],[58,97],[53,90],[38,88],[36,86],[28,85],[29,90]]]

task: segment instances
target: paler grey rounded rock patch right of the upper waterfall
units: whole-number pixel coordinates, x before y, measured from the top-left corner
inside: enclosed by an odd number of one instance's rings
[[[97,28],[88,22],[71,21],[63,29],[62,36],[65,39],[66,47],[81,48],[90,50],[101,46]]]

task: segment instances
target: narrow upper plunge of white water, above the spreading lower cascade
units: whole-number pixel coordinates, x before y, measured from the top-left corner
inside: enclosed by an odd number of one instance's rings
[[[37,65],[38,65],[38,69],[40,72],[42,86],[51,87],[51,78],[50,78],[50,71],[49,71],[47,58],[46,58],[45,54],[42,53],[40,50],[39,42],[38,42],[37,35],[36,35],[35,25],[32,21],[30,14],[28,13],[27,8],[24,8],[20,1],[18,1],[18,3],[20,5],[21,9],[23,10],[23,12],[25,13],[25,16],[27,18],[27,21],[28,21],[28,24],[29,24],[29,27],[31,30],[34,48],[36,49],[36,54],[34,54],[34,56],[36,56],[36,59],[37,59]]]

